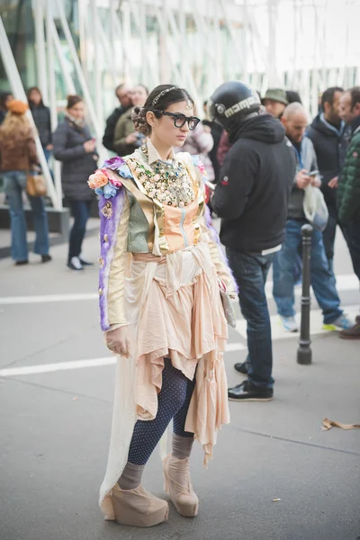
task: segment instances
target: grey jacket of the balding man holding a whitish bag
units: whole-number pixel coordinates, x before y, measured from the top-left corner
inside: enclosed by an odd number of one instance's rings
[[[307,171],[315,171],[318,169],[318,162],[316,159],[315,149],[311,142],[311,139],[304,137],[302,139],[301,151],[295,148],[296,153],[296,173],[298,173],[302,168]],[[302,203],[304,198],[304,190],[299,189],[296,185],[295,178],[293,180],[293,190],[290,195],[289,208],[287,212],[288,220],[306,220],[305,214],[303,211]]]

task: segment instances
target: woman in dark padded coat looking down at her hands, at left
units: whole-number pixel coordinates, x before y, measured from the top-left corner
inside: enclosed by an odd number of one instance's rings
[[[62,162],[61,183],[64,196],[70,204],[74,224],[70,231],[67,266],[83,270],[91,266],[82,255],[86,222],[90,216],[94,194],[87,185],[94,173],[98,156],[88,126],[85,123],[85,105],[79,95],[67,96],[65,119],[58,123],[53,135],[54,157]]]

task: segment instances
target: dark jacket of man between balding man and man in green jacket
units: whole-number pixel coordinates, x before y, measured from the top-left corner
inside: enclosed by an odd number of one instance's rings
[[[340,130],[332,127],[320,112],[309,126],[306,136],[315,148],[325,202],[336,208],[338,190],[331,189],[328,184],[343,168],[348,146],[347,131],[344,126]]]

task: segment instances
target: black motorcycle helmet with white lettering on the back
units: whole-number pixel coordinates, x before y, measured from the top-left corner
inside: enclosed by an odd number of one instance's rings
[[[260,98],[255,90],[239,81],[229,81],[220,85],[208,101],[208,114],[211,121],[217,121],[231,132],[248,117],[260,110]]]

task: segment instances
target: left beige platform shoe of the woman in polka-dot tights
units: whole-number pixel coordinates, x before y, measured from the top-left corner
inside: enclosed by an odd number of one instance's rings
[[[166,500],[157,499],[139,485],[135,490],[121,490],[118,484],[112,488],[112,504],[116,521],[132,527],[154,527],[168,516]]]

